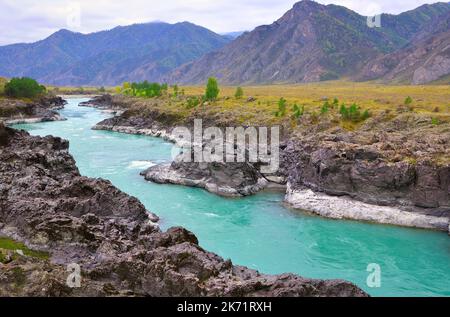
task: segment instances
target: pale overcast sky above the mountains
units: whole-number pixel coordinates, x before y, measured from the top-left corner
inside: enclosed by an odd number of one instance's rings
[[[89,33],[151,21],[189,21],[215,32],[270,24],[295,0],[0,0],[0,45],[34,42],[65,28]],[[363,15],[400,13],[436,0],[318,0]],[[78,14],[81,12],[81,14]]]

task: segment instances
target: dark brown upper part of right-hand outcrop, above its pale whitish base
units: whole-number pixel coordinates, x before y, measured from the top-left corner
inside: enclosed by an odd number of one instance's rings
[[[413,114],[376,125],[366,131],[293,137],[282,159],[290,183],[370,204],[450,216],[448,129]]]

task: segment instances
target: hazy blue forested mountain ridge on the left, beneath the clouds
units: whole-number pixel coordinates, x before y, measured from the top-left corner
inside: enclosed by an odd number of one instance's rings
[[[156,81],[229,41],[188,22],[135,24],[86,35],[61,30],[36,43],[0,47],[0,76],[57,85]]]

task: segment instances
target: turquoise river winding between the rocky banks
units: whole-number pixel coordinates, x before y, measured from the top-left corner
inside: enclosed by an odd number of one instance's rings
[[[161,227],[183,226],[200,244],[235,264],[264,273],[346,279],[374,296],[450,296],[446,233],[334,221],[290,210],[281,193],[225,199],[201,189],[146,182],[139,172],[167,162],[172,144],[91,127],[109,117],[70,99],[62,122],[17,125],[33,135],[70,141],[80,172],[110,180],[158,214]],[[366,285],[367,266],[382,269],[380,288]]]

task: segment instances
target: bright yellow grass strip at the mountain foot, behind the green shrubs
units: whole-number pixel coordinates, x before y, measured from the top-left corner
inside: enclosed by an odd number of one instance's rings
[[[279,98],[284,97],[289,104],[297,103],[305,105],[307,110],[320,110],[324,98],[333,101],[338,98],[340,103],[347,105],[357,103],[364,109],[373,111],[395,110],[404,105],[405,99],[410,96],[413,99],[412,107],[418,112],[435,113],[439,108],[438,115],[450,114],[450,86],[388,86],[372,83],[352,82],[326,82],[302,85],[271,85],[243,87],[245,97],[257,98],[252,105],[267,102],[272,103],[275,108]],[[204,87],[184,87],[187,95],[200,95]],[[234,96],[236,87],[221,87],[220,97]],[[223,105],[232,106],[240,101],[229,100]],[[272,110],[275,108],[271,107]]]

